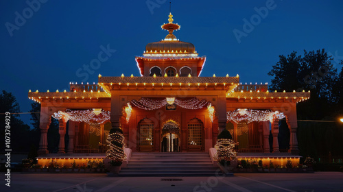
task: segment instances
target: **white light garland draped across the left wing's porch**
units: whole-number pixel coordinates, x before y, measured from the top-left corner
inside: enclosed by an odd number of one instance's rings
[[[102,124],[105,121],[110,120],[110,112],[102,110],[99,115],[95,115],[94,110],[70,110],[54,112],[52,115],[55,119],[64,119],[64,121],[75,121],[75,122],[85,122],[88,124],[99,123]]]

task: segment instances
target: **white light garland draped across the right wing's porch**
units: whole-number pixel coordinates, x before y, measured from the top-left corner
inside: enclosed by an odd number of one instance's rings
[[[283,119],[285,114],[276,110],[251,110],[251,109],[237,109],[234,111],[226,112],[227,121],[234,121],[239,123],[240,121],[247,121],[248,123],[252,121],[270,121],[274,122],[275,119]]]

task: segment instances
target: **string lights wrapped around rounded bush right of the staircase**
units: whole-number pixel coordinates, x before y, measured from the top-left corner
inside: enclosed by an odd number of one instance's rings
[[[220,160],[235,160],[237,158],[237,152],[234,150],[235,142],[232,139],[218,139],[215,144],[217,153],[213,156],[217,161]]]

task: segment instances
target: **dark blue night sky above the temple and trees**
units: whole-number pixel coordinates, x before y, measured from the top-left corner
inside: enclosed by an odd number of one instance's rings
[[[264,18],[255,15],[255,7],[266,6],[270,9],[262,12]],[[29,89],[61,91],[69,82],[93,84],[99,73],[139,76],[134,56],[142,56],[147,43],[167,35],[161,29],[169,14],[165,0],[49,0],[34,8],[30,12],[26,1],[0,1],[0,88],[14,93],[23,112],[30,109]],[[174,23],[181,25],[176,37],[207,57],[202,76],[238,73],[243,83],[264,84],[270,82],[267,73],[281,54],[324,48],[343,60],[342,8],[340,0],[174,0],[171,12]],[[16,12],[23,16],[23,11],[27,19],[16,19]],[[253,19],[254,28],[244,31],[244,19]],[[245,33],[240,43],[235,29]],[[116,51],[93,74],[87,72],[88,78],[77,75],[97,58],[100,46]],[[29,115],[21,117],[29,123]]]

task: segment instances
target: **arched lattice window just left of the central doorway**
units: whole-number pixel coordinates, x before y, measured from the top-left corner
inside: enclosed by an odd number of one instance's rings
[[[139,121],[139,145],[152,146],[154,145],[154,122],[144,118]]]

